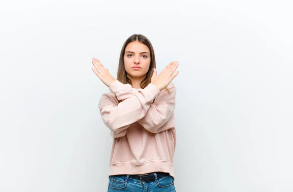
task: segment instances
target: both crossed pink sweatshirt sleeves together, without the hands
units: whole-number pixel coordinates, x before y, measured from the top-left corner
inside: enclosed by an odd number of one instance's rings
[[[117,102],[108,94],[103,94],[99,101],[99,109],[105,125],[111,130],[112,137],[121,137],[126,134],[130,124],[138,122],[147,131],[159,133],[171,127],[163,126],[173,115],[175,109],[175,86],[169,84],[168,88],[160,92],[153,84],[145,89],[132,89],[130,84],[123,84],[118,80],[109,87],[115,94]],[[154,98],[158,98],[152,103]]]

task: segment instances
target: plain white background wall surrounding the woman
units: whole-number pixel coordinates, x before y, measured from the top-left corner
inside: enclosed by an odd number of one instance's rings
[[[0,4],[0,191],[106,192],[98,101],[132,34],[178,60],[177,192],[293,192],[291,0]]]

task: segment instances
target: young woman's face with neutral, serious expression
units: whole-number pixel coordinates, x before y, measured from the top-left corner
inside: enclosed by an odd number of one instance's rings
[[[142,80],[146,77],[150,65],[148,47],[138,41],[129,43],[124,54],[124,66],[127,77],[133,80]]]

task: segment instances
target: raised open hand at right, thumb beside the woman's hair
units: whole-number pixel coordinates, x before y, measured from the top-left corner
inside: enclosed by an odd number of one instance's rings
[[[175,78],[179,71],[174,71],[178,67],[178,61],[171,61],[165,69],[157,76],[157,70],[154,68],[153,76],[151,77],[151,83],[156,85],[160,91],[165,89],[169,83]],[[174,74],[173,74],[174,73]]]

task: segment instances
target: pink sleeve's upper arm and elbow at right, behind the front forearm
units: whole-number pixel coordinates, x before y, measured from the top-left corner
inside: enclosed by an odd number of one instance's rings
[[[174,85],[168,89],[170,93],[164,89],[155,102],[149,104],[146,115],[138,120],[138,123],[151,133],[156,134],[174,127],[174,123],[167,121],[174,113],[176,90]]]

